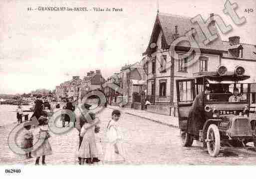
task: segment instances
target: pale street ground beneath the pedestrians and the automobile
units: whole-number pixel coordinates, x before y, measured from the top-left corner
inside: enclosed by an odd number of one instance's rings
[[[104,108],[97,114],[101,121],[97,141],[102,141],[103,152],[106,146],[106,128],[113,111],[110,108],[111,106]],[[123,142],[127,151],[125,164],[256,165],[256,152],[249,149],[221,150],[219,157],[212,158],[196,141],[192,147],[182,147],[179,129],[170,127],[177,125],[177,122],[174,123],[178,121],[177,118],[132,109],[121,108],[121,111],[118,125],[123,133]],[[8,134],[15,126],[16,124],[8,124],[0,127],[0,165],[34,165],[35,158],[27,160],[24,156],[14,154],[8,147]],[[57,126],[61,126],[60,121],[57,121]],[[65,134],[52,132],[50,134],[49,142],[53,153],[46,157],[47,165],[78,165],[77,130],[70,128],[70,131]],[[20,140],[21,135],[17,135],[18,145]],[[103,158],[104,154],[99,155],[100,160]],[[94,165],[103,165],[103,163]]]

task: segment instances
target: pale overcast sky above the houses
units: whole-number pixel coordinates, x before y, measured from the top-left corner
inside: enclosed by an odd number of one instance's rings
[[[157,14],[157,0],[0,0],[0,93],[54,89],[72,76],[100,69],[104,77],[141,60]],[[159,0],[163,13],[205,19],[219,14],[241,42],[256,44],[256,1],[237,2],[247,23],[224,14],[226,0]],[[27,11],[27,7],[123,8],[122,12]],[[244,12],[254,8],[253,13]]]

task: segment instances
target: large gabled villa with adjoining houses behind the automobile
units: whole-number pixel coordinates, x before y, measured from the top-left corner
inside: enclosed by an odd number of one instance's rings
[[[126,107],[134,109],[143,109],[142,101],[148,99],[152,104],[148,111],[175,116],[176,79],[216,71],[220,64],[224,64],[228,71],[234,71],[237,65],[241,65],[246,69],[246,74],[255,79],[256,45],[242,43],[239,36],[231,36],[229,41],[223,41],[214,14],[210,17],[209,30],[211,34],[218,35],[218,38],[205,45],[205,34],[197,23],[192,24],[190,17],[158,12],[142,60],[136,64],[125,65],[119,73],[115,73],[118,78],[117,84],[125,93],[105,89],[106,96],[116,100],[126,96]],[[174,40],[191,29],[194,33],[190,38],[198,43],[201,53],[197,50],[190,52],[190,44],[193,43],[188,41],[181,41],[170,48]],[[184,54],[188,53],[189,55],[184,57]],[[196,58],[198,60],[195,60]],[[115,74],[108,80],[115,78]],[[112,101],[109,101],[109,104],[113,104]]]

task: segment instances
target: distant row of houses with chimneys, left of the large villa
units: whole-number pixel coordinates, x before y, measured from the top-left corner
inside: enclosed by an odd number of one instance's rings
[[[87,75],[80,79],[80,76],[73,76],[71,80],[61,83],[55,88],[58,101],[67,98],[80,98],[83,92],[91,90],[103,90],[102,84],[105,83],[100,70],[87,72]],[[83,90],[84,89],[84,90]]]

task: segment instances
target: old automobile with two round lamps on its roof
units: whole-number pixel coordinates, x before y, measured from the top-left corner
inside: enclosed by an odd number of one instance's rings
[[[176,80],[183,146],[191,147],[197,140],[207,147],[212,157],[217,157],[225,148],[248,148],[248,143],[256,147],[256,119],[250,113],[251,84],[242,66],[228,72],[224,65],[220,65],[217,72],[199,72],[192,78]],[[196,95],[206,87],[210,88],[210,93],[203,95],[203,125],[198,136],[191,135],[188,133],[190,110]],[[232,101],[234,89],[240,94],[234,98],[239,100]]]

